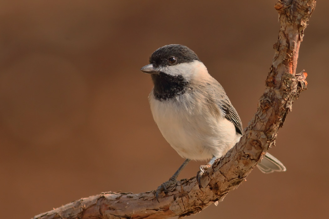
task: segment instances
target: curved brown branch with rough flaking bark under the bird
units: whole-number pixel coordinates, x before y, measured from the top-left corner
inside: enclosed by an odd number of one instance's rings
[[[82,198],[34,218],[183,217],[222,201],[229,191],[245,181],[266,151],[274,146],[278,129],[291,111],[293,101],[306,89],[307,74],[296,74],[296,66],[303,32],[314,8],[315,0],[281,0],[275,4],[281,28],[257,112],[240,142],[202,176],[202,188],[195,177],[182,180],[169,188],[168,194],[161,195],[160,203],[156,201],[155,191],[139,194],[106,192]]]

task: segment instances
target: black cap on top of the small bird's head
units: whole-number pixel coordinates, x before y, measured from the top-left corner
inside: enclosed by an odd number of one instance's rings
[[[169,62],[169,58],[174,57],[176,61],[174,63]],[[150,64],[154,67],[177,65],[180,63],[192,62],[198,60],[199,57],[188,47],[180,44],[170,44],[160,47],[150,57]]]

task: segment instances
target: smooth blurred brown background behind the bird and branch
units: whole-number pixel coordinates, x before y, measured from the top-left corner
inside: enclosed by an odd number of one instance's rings
[[[0,212],[31,218],[102,191],[143,192],[184,159],[154,123],[139,68],[166,44],[189,46],[223,85],[244,127],[274,55],[276,0],[0,1]],[[328,1],[305,31],[308,90],[270,152],[224,202],[189,218],[320,218],[328,212]],[[191,162],[181,178],[194,176]]]

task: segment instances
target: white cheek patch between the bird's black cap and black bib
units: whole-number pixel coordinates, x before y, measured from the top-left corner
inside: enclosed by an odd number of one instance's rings
[[[195,60],[173,66],[159,67],[158,69],[167,75],[183,76],[186,80],[191,80],[196,73],[204,71],[207,68],[202,62]]]

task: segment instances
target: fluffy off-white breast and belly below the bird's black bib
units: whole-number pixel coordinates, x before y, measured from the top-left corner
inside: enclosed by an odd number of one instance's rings
[[[234,124],[221,114],[214,116],[196,101],[194,94],[185,93],[159,101],[153,91],[149,96],[153,118],[166,141],[183,158],[209,160],[221,157],[236,142]]]

